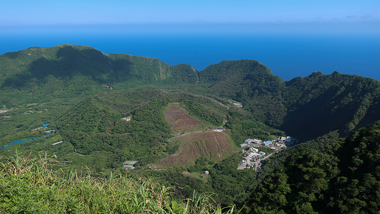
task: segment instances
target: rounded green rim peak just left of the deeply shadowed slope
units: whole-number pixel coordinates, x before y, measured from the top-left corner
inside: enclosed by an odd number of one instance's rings
[[[285,81],[255,60],[221,61],[199,72],[199,82],[210,83],[207,92],[243,102],[244,109],[266,124],[280,124],[285,114],[281,90]]]

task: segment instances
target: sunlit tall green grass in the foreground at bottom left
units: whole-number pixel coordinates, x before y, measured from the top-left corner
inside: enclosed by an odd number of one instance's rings
[[[211,195],[173,199],[171,186],[152,179],[110,173],[95,178],[59,168],[45,152],[0,159],[1,213],[232,213]],[[58,170],[53,169],[58,168]]]

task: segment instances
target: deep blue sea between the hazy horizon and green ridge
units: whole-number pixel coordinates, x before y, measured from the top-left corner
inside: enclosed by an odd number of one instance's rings
[[[380,37],[291,33],[0,33],[0,54],[30,46],[92,46],[103,53],[155,57],[197,70],[221,60],[254,59],[284,80],[334,70],[380,80]]]

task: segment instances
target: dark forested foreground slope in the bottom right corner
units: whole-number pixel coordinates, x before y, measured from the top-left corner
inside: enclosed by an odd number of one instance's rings
[[[323,150],[292,149],[252,192],[246,212],[378,213],[379,132],[377,121]]]

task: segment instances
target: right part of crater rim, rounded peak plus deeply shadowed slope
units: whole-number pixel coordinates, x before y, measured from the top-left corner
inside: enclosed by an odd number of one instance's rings
[[[380,82],[357,75],[313,72],[284,81],[258,61],[222,61],[199,71],[207,92],[243,103],[258,121],[306,141],[340,136],[380,120]]]

